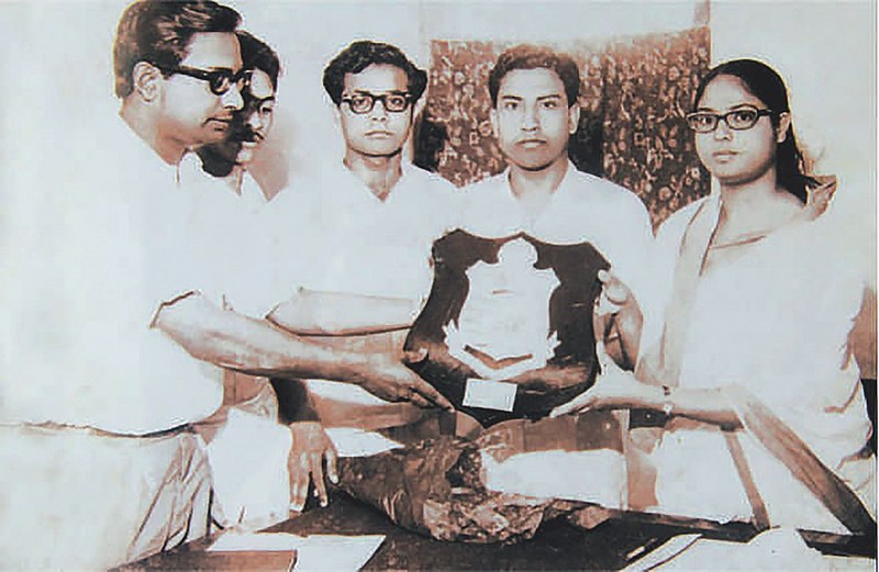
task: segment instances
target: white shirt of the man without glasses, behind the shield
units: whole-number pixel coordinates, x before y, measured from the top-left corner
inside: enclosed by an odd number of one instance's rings
[[[509,169],[464,189],[464,229],[487,238],[525,233],[550,244],[589,243],[636,298],[645,290],[653,229],[633,192],[599,177],[568,169],[549,203],[536,216],[510,188]]]

